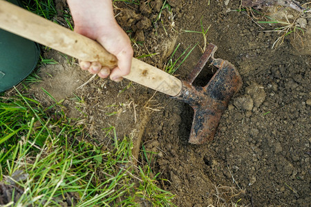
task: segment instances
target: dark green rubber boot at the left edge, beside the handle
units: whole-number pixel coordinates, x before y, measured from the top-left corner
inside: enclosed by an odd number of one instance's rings
[[[17,0],[10,2],[21,6]],[[37,43],[0,29],[0,92],[25,79],[37,66],[39,55]]]

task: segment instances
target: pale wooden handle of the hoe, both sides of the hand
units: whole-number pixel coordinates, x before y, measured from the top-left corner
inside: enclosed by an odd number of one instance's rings
[[[115,56],[96,41],[3,0],[0,0],[0,28],[83,61],[99,61],[110,68],[117,64]],[[182,88],[176,77],[135,58],[131,73],[124,78],[171,96],[178,95]]]

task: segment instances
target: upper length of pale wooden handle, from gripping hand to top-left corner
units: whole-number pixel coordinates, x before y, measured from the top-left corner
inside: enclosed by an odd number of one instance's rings
[[[82,60],[100,61],[109,67],[117,63],[99,43],[3,0],[0,28]]]

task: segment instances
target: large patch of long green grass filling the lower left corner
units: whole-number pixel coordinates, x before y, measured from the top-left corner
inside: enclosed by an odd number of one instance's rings
[[[13,186],[16,201],[10,205],[60,206],[66,199],[75,206],[138,206],[142,200],[173,205],[173,195],[158,188],[159,174],[151,177],[149,165],[135,175],[131,137],[120,139],[111,127],[106,135],[113,147],[95,146],[61,103],[44,107],[19,92],[0,97],[0,184]]]

